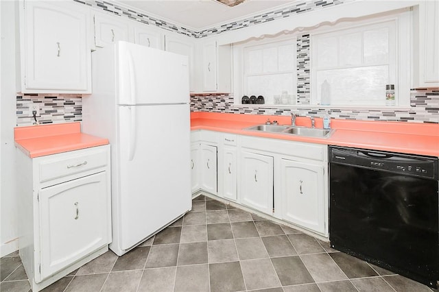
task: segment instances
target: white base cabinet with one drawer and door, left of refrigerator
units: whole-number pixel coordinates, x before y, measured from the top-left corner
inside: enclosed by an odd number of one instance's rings
[[[19,255],[32,291],[40,291],[111,242],[110,145],[29,158],[20,169]]]

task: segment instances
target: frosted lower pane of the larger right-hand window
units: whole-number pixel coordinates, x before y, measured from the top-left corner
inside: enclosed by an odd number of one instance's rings
[[[319,104],[324,80],[329,83],[331,105],[385,106],[385,84],[389,83],[389,66],[318,71],[317,92],[313,94],[317,95]]]

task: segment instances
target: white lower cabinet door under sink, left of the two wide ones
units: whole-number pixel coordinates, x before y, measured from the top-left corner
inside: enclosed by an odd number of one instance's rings
[[[273,158],[242,151],[240,198],[241,204],[272,214]]]

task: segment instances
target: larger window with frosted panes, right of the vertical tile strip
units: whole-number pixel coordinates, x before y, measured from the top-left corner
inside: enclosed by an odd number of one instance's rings
[[[335,27],[311,34],[311,105],[410,106],[410,13]]]

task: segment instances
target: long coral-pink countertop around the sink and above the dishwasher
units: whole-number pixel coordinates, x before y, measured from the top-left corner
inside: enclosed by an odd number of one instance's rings
[[[289,141],[439,157],[439,125],[434,123],[331,119],[331,127],[335,129],[335,132],[329,138],[243,130],[252,125],[263,124],[267,119],[276,120],[280,125],[291,125],[291,119],[287,116],[193,112],[191,114],[191,130],[212,130]],[[308,117],[298,117],[296,124],[309,127],[311,121]],[[316,118],[316,127],[322,127],[322,119]]]

